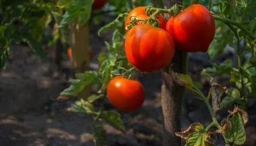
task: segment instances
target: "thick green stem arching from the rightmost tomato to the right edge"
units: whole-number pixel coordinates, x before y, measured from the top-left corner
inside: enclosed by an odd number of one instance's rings
[[[215,20],[220,20],[226,24],[232,24],[232,25],[235,25],[236,27],[240,28],[243,32],[245,32],[249,37],[250,39],[252,40],[255,40],[256,39],[256,36],[253,35],[253,33],[249,32],[246,28],[243,27],[243,25],[237,21],[233,21],[231,19],[228,19],[228,18],[224,18],[224,17],[221,17],[221,16],[217,16],[215,14],[213,14],[213,18]]]

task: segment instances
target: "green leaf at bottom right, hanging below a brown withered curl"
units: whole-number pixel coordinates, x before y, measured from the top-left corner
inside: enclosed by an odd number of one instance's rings
[[[246,141],[246,132],[242,116],[240,113],[235,113],[229,121],[231,121],[231,129],[224,134],[225,140],[237,145],[244,144]]]

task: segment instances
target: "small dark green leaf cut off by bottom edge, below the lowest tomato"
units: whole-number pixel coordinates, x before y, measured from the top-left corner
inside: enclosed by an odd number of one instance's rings
[[[93,125],[93,141],[96,146],[105,146],[107,137],[107,132],[102,125]]]

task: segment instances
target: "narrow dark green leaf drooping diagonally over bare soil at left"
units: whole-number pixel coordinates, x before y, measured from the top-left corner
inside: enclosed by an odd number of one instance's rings
[[[39,42],[36,42],[29,34],[25,35],[26,42],[32,47],[36,55],[39,55],[42,59],[47,58],[45,51],[42,50],[42,45]]]

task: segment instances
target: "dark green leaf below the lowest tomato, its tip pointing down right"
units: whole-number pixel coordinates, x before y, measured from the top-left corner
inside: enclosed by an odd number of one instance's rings
[[[125,132],[125,125],[123,125],[121,115],[116,111],[103,111],[103,113],[101,113],[101,118],[103,118],[107,123],[109,123],[114,128],[120,130],[121,132]]]

